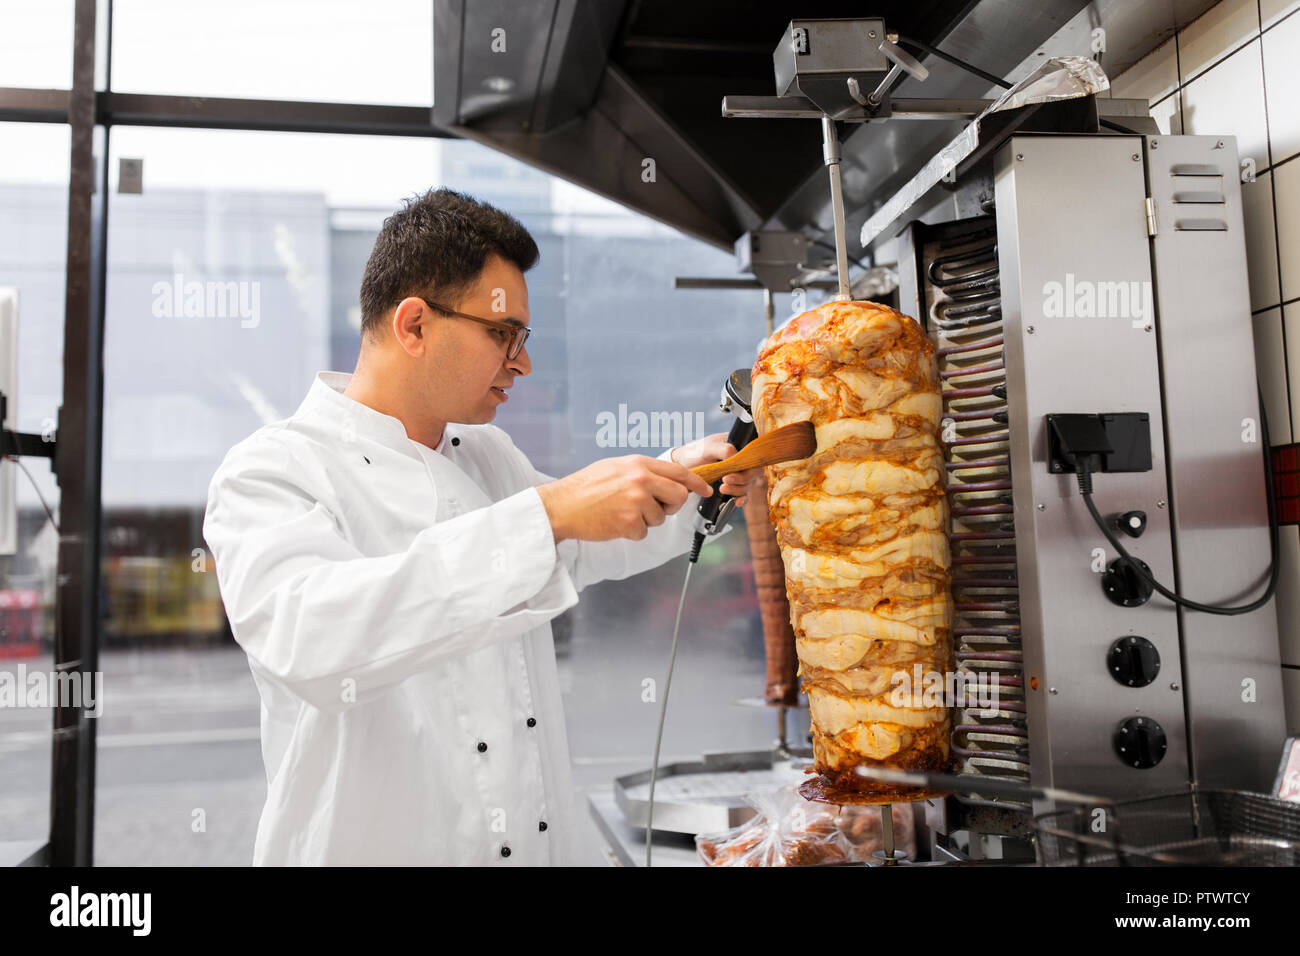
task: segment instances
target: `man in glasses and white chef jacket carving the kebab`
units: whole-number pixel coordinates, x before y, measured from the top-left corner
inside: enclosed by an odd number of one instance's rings
[[[235,445],[203,533],[261,695],[257,865],[563,865],[576,817],[550,620],[685,553],[724,434],[562,479],[491,424],[532,371],[510,215],[385,222],[351,375]],[[737,496],[750,475],[729,475]]]

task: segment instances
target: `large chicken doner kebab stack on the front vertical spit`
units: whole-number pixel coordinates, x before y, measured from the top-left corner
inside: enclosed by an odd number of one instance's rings
[[[853,769],[949,765],[946,701],[911,685],[953,670],[935,347],[901,312],[829,302],[763,342],[753,385],[759,434],[816,429],[812,458],[767,468],[812,718],[816,777],[801,792],[838,804],[931,796]]]

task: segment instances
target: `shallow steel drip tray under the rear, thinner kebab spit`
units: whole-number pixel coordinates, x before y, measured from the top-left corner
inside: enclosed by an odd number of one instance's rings
[[[706,753],[698,761],[666,763],[654,786],[654,829],[706,834],[744,823],[755,814],[745,795],[802,783],[810,757],[774,750]],[[644,827],[650,808],[650,771],[615,778],[614,797],[630,826]]]

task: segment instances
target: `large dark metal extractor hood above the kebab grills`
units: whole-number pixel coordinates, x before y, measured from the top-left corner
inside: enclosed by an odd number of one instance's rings
[[[792,18],[883,17],[890,31],[1017,78],[1036,55],[1114,36],[1115,75],[1213,0],[436,0],[434,124],[731,248],[744,232],[831,230],[811,120],[723,118],[724,95],[776,92],[772,51]],[[1054,39],[1054,42],[1053,42]],[[1083,46],[1080,46],[1080,43]],[[900,96],[992,87],[935,57]],[[862,221],[962,120],[848,125],[850,254]],[[653,160],[653,165],[647,163]]]

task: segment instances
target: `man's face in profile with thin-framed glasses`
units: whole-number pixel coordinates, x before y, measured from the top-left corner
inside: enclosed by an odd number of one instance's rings
[[[438,304],[512,325],[529,321],[524,273],[495,254],[488,256],[478,281],[459,302]],[[430,347],[422,356],[422,371],[430,407],[446,421],[468,425],[491,421],[515,378],[533,371],[528,347],[507,359],[510,333],[504,330],[432,310],[426,320]]]

